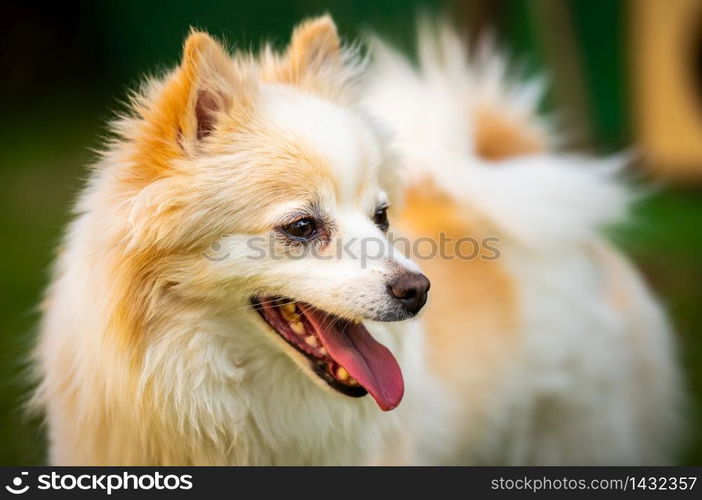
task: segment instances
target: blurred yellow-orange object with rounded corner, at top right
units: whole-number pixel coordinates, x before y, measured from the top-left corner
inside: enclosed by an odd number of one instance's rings
[[[702,1],[631,0],[634,123],[656,174],[702,181]]]

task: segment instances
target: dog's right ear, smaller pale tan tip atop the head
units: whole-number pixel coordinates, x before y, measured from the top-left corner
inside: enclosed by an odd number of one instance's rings
[[[308,73],[333,71],[342,64],[341,42],[329,15],[300,23],[287,50],[289,70],[301,78]]]

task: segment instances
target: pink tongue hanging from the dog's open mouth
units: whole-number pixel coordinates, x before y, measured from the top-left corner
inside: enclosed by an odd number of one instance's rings
[[[346,323],[341,329],[321,311],[304,307],[330,356],[346,368],[373,396],[380,409],[392,410],[402,400],[405,383],[397,360],[362,324]]]

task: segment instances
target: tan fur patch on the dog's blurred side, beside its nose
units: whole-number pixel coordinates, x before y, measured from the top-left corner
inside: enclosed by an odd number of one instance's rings
[[[470,214],[430,184],[408,191],[393,225],[415,239],[439,241],[442,232],[454,240],[488,236]],[[467,373],[489,378],[509,361],[507,353],[518,342],[517,303],[507,270],[499,259],[437,257],[419,264],[432,283],[424,313],[432,368],[454,383]]]

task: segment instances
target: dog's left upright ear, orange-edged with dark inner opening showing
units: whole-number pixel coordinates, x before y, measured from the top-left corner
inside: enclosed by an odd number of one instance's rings
[[[208,34],[193,31],[185,40],[180,74],[181,141],[202,141],[234,100],[237,78],[225,49]]]

